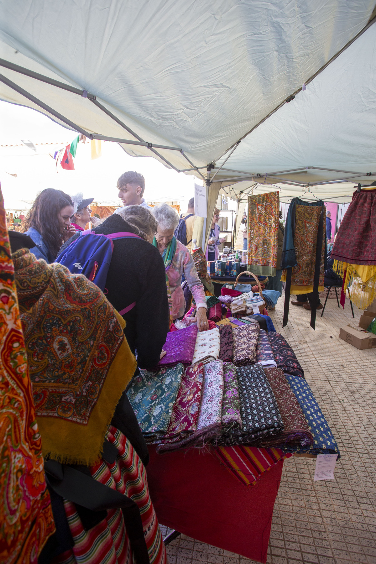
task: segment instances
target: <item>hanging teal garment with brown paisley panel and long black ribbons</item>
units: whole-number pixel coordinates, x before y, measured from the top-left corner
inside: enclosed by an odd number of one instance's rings
[[[294,198],[287,211],[284,244],[282,247],[281,280],[286,282],[283,327],[289,319],[290,294],[316,297],[324,290],[326,267],[325,204],[322,200],[306,202]],[[311,312],[311,327],[315,329],[316,307]]]

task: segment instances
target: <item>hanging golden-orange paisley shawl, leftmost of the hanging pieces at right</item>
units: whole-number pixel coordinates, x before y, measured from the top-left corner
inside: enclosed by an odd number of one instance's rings
[[[256,275],[276,275],[279,213],[279,192],[248,197],[248,270]]]

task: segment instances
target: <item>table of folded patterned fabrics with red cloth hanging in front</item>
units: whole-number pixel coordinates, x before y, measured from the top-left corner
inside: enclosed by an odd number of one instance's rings
[[[148,443],[160,523],[266,562],[284,459],[339,451],[289,343],[220,303],[208,331],[173,327],[166,355],[127,395]]]

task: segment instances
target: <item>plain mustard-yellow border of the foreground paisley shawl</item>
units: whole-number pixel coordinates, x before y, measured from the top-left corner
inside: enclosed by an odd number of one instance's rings
[[[122,341],[109,368],[100,398],[87,425],[57,417],[38,417],[44,457],[62,464],[91,466],[101,457],[104,438],[118,401],[136,369],[126,338]]]

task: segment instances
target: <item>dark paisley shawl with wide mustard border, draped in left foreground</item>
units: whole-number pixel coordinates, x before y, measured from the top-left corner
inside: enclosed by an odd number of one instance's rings
[[[12,258],[43,455],[93,464],[136,367],[125,324],[85,276],[26,249]]]

